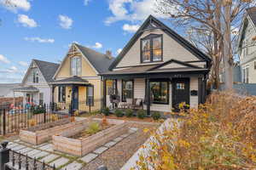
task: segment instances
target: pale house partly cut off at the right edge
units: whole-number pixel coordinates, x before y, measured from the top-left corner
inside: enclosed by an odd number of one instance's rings
[[[256,7],[247,8],[237,42],[241,82],[256,83]]]

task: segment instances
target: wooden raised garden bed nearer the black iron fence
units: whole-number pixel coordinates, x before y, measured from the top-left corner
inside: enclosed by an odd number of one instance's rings
[[[20,140],[30,144],[44,144],[53,135],[60,134],[67,129],[79,127],[83,123],[83,120],[71,122],[71,117],[68,117],[59,121],[40,124],[29,127],[26,130],[20,130]]]

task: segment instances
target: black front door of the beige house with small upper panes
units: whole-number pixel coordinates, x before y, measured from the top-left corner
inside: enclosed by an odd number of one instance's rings
[[[172,79],[172,108],[179,111],[178,105],[185,102],[189,105],[189,78]]]

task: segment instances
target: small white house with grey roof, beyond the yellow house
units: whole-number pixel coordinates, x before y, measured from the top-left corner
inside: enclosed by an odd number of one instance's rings
[[[15,93],[23,93],[23,104],[33,105],[49,104],[51,99],[51,91],[49,82],[59,65],[32,59],[32,63],[26,71],[26,75],[21,82],[21,88],[14,88]]]

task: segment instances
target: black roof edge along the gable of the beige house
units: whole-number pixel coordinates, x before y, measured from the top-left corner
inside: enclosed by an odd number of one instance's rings
[[[112,65],[110,65],[109,70],[113,70],[113,68],[119,64],[119,61],[123,59],[125,54],[130,50],[131,46],[143,34],[143,31],[148,31],[152,29],[161,29],[162,31],[165,31],[167,35],[169,35],[175,41],[181,44],[183,48],[186,48],[187,50],[189,50],[189,52],[194,54],[198,59],[205,60],[207,62],[212,61],[212,59],[210,59],[207,56],[207,54],[204,54],[201,52],[201,50],[199,50],[198,48],[195,48],[194,45],[192,45],[185,38],[178,35],[177,32],[173,31],[171,28],[169,28],[164,23],[162,23],[160,20],[157,20],[156,18],[154,18],[154,16],[149,15],[148,19],[144,21],[143,25],[137,30],[134,36],[131,37],[131,40],[125,45],[125,48],[121,51],[118,57],[113,61]]]

